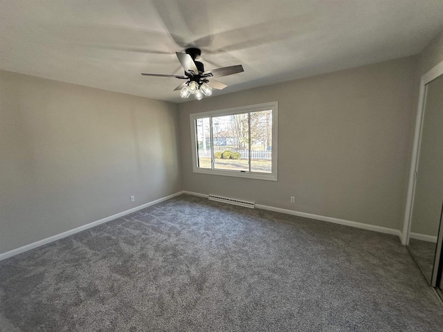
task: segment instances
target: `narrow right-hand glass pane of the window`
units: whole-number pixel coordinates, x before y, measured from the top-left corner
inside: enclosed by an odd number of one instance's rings
[[[271,170],[272,111],[251,112],[251,172]]]

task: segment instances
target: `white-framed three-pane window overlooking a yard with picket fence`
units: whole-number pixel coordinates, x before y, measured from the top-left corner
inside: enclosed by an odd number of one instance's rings
[[[277,181],[278,103],[190,115],[196,173]]]

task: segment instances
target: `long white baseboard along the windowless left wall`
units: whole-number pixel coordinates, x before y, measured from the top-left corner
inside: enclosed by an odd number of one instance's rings
[[[73,230],[68,230],[66,232],[62,232],[60,234],[54,235],[53,237],[48,237],[46,239],[42,239],[40,241],[27,244],[26,246],[22,246],[22,247],[17,248],[17,249],[12,249],[10,251],[4,252],[3,254],[0,254],[0,261],[2,259],[6,259],[8,257],[12,257],[12,256],[15,256],[15,255],[21,254],[22,252],[26,252],[28,250],[37,248],[39,246],[43,246],[43,245],[45,245],[47,243],[51,243],[53,241],[57,241],[59,239],[63,239],[64,237],[69,237],[69,235],[72,235],[72,234],[75,234],[75,233],[78,233],[78,232],[82,232],[82,230],[87,230],[88,228],[93,228],[93,227],[98,226],[98,225],[100,225],[102,223],[106,223],[107,221],[111,221],[111,220],[120,218],[120,216],[125,216],[127,214],[132,213],[132,212],[136,212],[138,210],[147,208],[148,206],[155,205],[155,204],[161,203],[163,201],[167,201],[168,199],[172,199],[173,197],[179,196],[181,194],[183,194],[183,191],[176,192],[175,194],[162,197],[161,199],[156,199],[155,201],[151,201],[151,202],[145,203],[143,205],[138,205],[136,208],[132,208],[132,209],[120,212],[118,214],[113,214],[112,216],[107,216],[106,218],[103,218],[103,219],[100,219],[100,220],[97,220],[97,221],[93,221],[91,223],[87,223],[86,225],[82,225],[82,226],[80,226],[78,228],[74,228]]]

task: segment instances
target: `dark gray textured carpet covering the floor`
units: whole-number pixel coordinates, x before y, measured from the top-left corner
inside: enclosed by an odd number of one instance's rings
[[[397,237],[182,195],[0,262],[1,331],[442,331]]]

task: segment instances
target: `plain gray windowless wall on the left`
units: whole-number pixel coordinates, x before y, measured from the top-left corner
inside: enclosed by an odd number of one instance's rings
[[[0,71],[0,252],[179,192],[177,133],[176,104]]]

